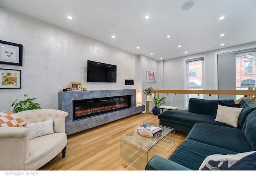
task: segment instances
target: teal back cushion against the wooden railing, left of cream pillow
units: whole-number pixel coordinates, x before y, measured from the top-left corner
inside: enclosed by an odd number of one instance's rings
[[[234,100],[221,100],[228,104],[234,104]],[[188,112],[216,116],[219,100],[204,100],[190,98],[188,102]]]

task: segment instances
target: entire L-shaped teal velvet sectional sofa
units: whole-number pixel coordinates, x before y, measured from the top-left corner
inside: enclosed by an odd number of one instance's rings
[[[220,102],[221,101],[221,102]],[[168,158],[154,155],[147,163],[145,170],[198,170],[206,159],[212,156],[237,156],[247,154],[253,158],[248,165],[250,170],[256,170],[256,104],[251,100],[241,100],[237,127],[217,122],[216,118],[218,104],[233,106],[234,100],[202,100],[190,99],[189,110],[168,110],[158,116],[160,124],[170,126],[175,130],[189,132],[175,152]],[[223,104],[222,104],[223,105]],[[169,120],[168,120],[169,118]],[[235,164],[230,167],[230,160],[221,165],[220,161],[215,162],[217,170],[236,170]],[[223,162],[223,160],[221,161]],[[208,162],[207,164],[209,164]],[[218,166],[220,165],[220,168]],[[240,164],[240,170],[243,164]],[[222,167],[222,168],[221,168]],[[204,166],[204,168],[207,168]],[[214,166],[215,168],[215,166]],[[248,169],[248,168],[247,168]],[[202,169],[204,170],[204,169]],[[206,169],[207,170],[207,169]]]

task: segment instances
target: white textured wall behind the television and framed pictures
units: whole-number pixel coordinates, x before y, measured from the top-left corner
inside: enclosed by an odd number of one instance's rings
[[[0,40],[23,45],[23,66],[0,64],[22,70],[21,89],[0,89],[0,111],[12,111],[10,104],[24,94],[42,108],[58,109],[58,91],[70,82],[82,82],[87,90],[125,89],[125,79],[136,82],[137,55],[2,7]],[[86,82],[87,60],[117,65],[117,82]]]

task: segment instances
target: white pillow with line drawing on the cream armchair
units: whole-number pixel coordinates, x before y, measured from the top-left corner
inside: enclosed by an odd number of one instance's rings
[[[53,131],[53,119],[46,120],[44,122],[37,122],[26,124],[26,128],[29,129],[29,138],[33,139],[46,134],[52,134]]]

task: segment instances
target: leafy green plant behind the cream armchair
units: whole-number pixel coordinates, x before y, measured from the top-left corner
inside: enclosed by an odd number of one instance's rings
[[[21,112],[21,111],[25,111],[25,110],[41,109],[40,104],[33,102],[36,100],[36,98],[27,98],[26,99],[27,96],[28,95],[25,94],[24,100],[20,100],[18,102],[18,99],[16,99],[14,102],[12,102],[11,106],[14,108],[12,111],[13,113]]]

